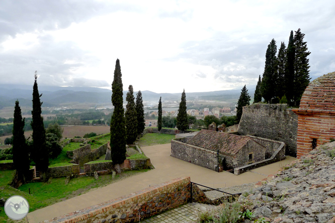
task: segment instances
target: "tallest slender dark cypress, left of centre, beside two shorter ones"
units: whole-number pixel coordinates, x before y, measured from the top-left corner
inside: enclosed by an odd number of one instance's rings
[[[120,164],[126,159],[126,127],[123,109],[123,84],[121,79],[121,67],[119,59],[116,60],[114,80],[112,83],[112,103],[114,112],[111,119],[111,155],[114,164],[117,164],[118,172],[121,172]]]

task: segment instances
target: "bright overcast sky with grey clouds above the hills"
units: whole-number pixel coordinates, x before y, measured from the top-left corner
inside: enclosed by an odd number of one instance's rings
[[[255,86],[265,53],[305,34],[310,77],[335,71],[335,1],[0,1],[5,84],[214,91]]]

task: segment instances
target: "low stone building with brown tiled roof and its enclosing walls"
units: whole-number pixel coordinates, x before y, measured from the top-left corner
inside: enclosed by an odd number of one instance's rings
[[[201,130],[192,138],[174,139],[171,156],[211,170],[234,169],[236,173],[236,168],[252,169],[254,164],[262,166],[284,159],[285,144],[259,137]]]

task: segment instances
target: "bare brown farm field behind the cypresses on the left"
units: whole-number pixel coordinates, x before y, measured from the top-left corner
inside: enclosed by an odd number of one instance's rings
[[[97,133],[100,134],[106,134],[110,132],[109,126],[62,126],[64,129],[63,132],[63,138],[73,138],[75,136],[83,137],[83,135],[87,133]],[[25,132],[26,138],[30,137],[33,131],[27,131]],[[10,136],[2,136],[0,137],[0,141],[4,142],[6,138],[10,138]]]

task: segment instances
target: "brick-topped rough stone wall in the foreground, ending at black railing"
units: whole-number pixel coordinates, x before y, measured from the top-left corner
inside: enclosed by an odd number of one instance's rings
[[[137,222],[186,203],[191,195],[190,184],[190,177],[177,178],[44,222]],[[194,201],[208,201],[201,197],[204,194],[196,185],[192,190]]]

